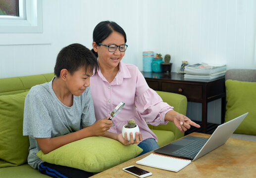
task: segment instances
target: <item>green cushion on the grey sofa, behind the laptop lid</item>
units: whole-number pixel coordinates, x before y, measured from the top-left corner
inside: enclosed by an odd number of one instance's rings
[[[225,122],[249,112],[235,133],[256,135],[256,82],[227,80],[225,85]]]

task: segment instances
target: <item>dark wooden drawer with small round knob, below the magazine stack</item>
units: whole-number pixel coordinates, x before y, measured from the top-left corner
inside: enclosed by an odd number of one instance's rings
[[[188,99],[202,99],[202,86],[189,84],[162,83],[162,91],[185,95]]]

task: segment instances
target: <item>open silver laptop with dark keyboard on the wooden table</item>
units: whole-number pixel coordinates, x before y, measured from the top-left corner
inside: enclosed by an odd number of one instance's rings
[[[248,112],[231,121],[219,125],[209,138],[186,136],[158,148],[154,150],[154,152],[195,161],[224,144],[247,115]]]

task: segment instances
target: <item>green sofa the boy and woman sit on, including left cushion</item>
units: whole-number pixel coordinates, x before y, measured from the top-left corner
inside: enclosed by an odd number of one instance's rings
[[[29,140],[28,136],[22,135],[22,126],[25,91],[35,85],[51,81],[53,76],[53,73],[49,73],[0,79],[0,178],[48,177],[27,164]],[[174,106],[177,112],[186,115],[186,96],[163,91],[157,93],[164,102]],[[158,137],[159,146],[184,135],[173,123],[149,127]]]

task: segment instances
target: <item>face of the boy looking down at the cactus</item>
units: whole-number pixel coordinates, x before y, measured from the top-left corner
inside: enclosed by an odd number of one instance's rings
[[[90,86],[90,77],[92,73],[88,74],[84,67],[80,67],[73,74],[68,72],[66,87],[75,96],[81,95],[87,87]]]

